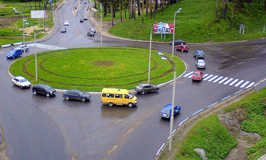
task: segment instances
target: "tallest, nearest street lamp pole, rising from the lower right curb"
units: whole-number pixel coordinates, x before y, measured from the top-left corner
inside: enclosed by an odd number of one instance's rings
[[[180,13],[181,8],[179,8],[174,14],[174,32],[175,32],[175,15]],[[172,57],[174,56],[174,33],[173,33],[173,47],[172,47]],[[173,59],[175,64],[175,61]],[[169,133],[169,148],[168,150],[171,151],[172,149],[172,131],[173,131],[173,122],[174,122],[174,98],[175,98],[175,81],[176,81],[176,65],[174,68],[174,82],[173,82],[173,94],[172,94],[172,108],[171,108],[171,119],[170,119],[170,133]]]

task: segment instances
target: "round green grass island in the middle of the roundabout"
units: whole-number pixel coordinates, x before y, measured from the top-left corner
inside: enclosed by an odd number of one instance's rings
[[[37,54],[38,81],[35,78],[35,55],[20,58],[10,66],[14,76],[22,75],[33,84],[45,83],[54,88],[101,91],[104,87],[132,89],[148,82],[147,49],[103,47],[48,51]],[[181,59],[158,51],[151,53],[151,83],[173,79],[174,62],[177,75],[184,72]],[[174,61],[174,62],[173,62]]]

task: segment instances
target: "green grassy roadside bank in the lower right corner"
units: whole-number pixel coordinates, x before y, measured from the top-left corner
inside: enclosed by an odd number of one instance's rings
[[[225,106],[223,110],[221,110],[222,106]],[[236,110],[242,115],[234,115]],[[188,131],[185,133],[183,130],[179,133],[176,132],[174,136],[173,148],[176,149],[175,152],[168,153],[164,150],[160,159],[169,159],[170,157],[174,159],[201,159],[194,151],[195,147],[204,148],[209,159],[225,158],[237,142],[236,138],[220,123],[217,113],[221,112],[229,112],[233,118],[238,119],[242,130],[258,133],[262,137],[247,149],[248,159],[255,160],[266,153],[266,87],[264,87],[230,105],[222,104],[214,111],[209,110],[204,118],[191,119],[192,123],[187,122],[183,126],[184,130],[189,128]],[[209,113],[212,114],[208,115]],[[205,115],[202,114],[201,116]],[[184,135],[180,135],[180,132]],[[252,144],[252,142],[250,143]]]

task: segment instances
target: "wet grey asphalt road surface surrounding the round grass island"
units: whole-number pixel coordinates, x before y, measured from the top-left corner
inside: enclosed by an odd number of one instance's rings
[[[74,15],[72,8],[75,5],[73,1],[65,1],[59,10],[54,11],[55,28],[49,36],[38,41],[38,53],[54,46],[61,49],[100,46],[99,32],[94,38],[86,35],[90,28],[95,27],[92,22],[79,23],[88,4],[82,3]],[[70,26],[66,26],[66,33],[60,33],[64,21],[69,21]],[[175,104],[182,110],[174,118],[174,127],[195,111],[265,79],[265,44],[265,39],[188,44],[189,52],[175,51],[175,55],[186,63],[187,71],[177,79]],[[103,46],[149,49],[149,42],[103,36]],[[168,53],[172,51],[168,43],[153,43],[152,48]],[[192,82],[188,74],[196,70],[192,56],[195,49],[206,52],[207,68],[203,72],[213,75],[198,83]],[[50,98],[35,96],[30,89],[12,85],[8,67],[14,60],[5,58],[9,50],[0,50],[0,105],[1,125],[10,159],[152,159],[168,137],[170,122],[161,119],[159,112],[164,105],[171,104],[171,83],[162,86],[159,93],[137,95],[138,105],[132,108],[103,105],[99,94],[93,94],[86,103],[65,101],[62,92]],[[30,47],[26,54],[33,53],[34,48]],[[227,80],[219,83],[222,79],[211,80],[215,76],[216,79],[223,76],[232,80],[227,84]],[[232,84],[236,79],[238,81]],[[254,89],[262,88],[265,83]]]

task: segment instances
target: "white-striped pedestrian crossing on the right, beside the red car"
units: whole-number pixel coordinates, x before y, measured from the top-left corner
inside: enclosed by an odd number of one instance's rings
[[[183,75],[183,77],[191,78],[193,75],[193,71],[188,72]],[[245,80],[239,80],[237,78],[229,78],[229,77],[223,77],[213,74],[204,74],[203,75],[203,81],[223,84],[223,85],[229,85],[239,88],[250,88],[252,87],[255,82],[245,81]]]

